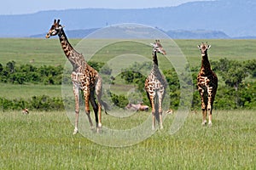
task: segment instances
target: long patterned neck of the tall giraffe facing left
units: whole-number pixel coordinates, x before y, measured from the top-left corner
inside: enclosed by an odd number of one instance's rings
[[[64,54],[67,56],[67,59],[71,62],[74,69],[77,69],[81,65],[86,65],[86,61],[84,60],[84,56],[82,54],[79,54],[72,45],[68,42],[67,36],[63,29],[61,29],[60,33],[58,34],[60,42],[61,42],[61,48],[64,51]]]

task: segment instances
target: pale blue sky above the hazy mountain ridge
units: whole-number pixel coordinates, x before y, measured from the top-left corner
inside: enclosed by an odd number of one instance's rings
[[[32,14],[67,8],[157,8],[195,0],[0,0],[0,14]],[[202,1],[202,0],[196,0]]]

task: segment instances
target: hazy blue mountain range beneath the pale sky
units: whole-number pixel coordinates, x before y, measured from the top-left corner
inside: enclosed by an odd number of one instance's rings
[[[82,31],[121,23],[158,27],[173,37],[256,37],[254,16],[255,0],[193,2],[166,8],[50,10],[35,14],[0,15],[0,37],[42,34],[49,30],[54,19],[61,19],[67,31],[76,30],[78,37]]]

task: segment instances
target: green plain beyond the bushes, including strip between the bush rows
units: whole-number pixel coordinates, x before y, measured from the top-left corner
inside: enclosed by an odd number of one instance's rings
[[[106,40],[102,40],[106,41]],[[177,43],[177,47],[181,49],[184,56],[189,62],[190,67],[201,65],[200,51],[197,45],[202,41],[208,41],[212,45],[209,49],[209,58],[211,60],[218,60],[222,58],[235,59],[235,60],[247,60],[256,59],[256,40],[174,40]],[[69,42],[73,44],[75,48],[80,39],[70,39]],[[105,62],[111,59],[112,54],[129,53],[128,49],[135,48],[133,43],[125,43],[126,48],[119,46],[113,46],[110,48],[113,53],[109,54],[104,48],[96,54],[96,61]],[[137,44],[136,44],[137,45]],[[151,49],[145,46],[143,48],[135,48],[135,54],[142,54],[151,59]],[[121,51],[121,52],[119,52]],[[148,52],[149,51],[149,52]],[[115,53],[116,52],[116,53]],[[34,59],[34,62],[30,61]],[[166,65],[166,60],[159,57],[160,66]],[[61,45],[58,39],[34,39],[34,38],[0,38],[0,63],[4,66],[11,60],[15,60],[16,65],[65,65],[68,61],[64,55]],[[68,64],[67,64],[68,65]],[[167,68],[167,67],[165,67]],[[0,83],[1,84],[1,83]],[[12,92],[9,92],[9,88]],[[13,96],[14,94],[15,96]],[[61,97],[61,86],[42,86],[37,84],[26,85],[5,85],[0,86],[0,96],[7,99],[15,98],[31,98],[33,95],[45,94],[50,97]]]

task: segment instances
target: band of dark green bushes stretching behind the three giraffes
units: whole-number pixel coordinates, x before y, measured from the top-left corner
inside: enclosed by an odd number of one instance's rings
[[[103,66],[103,63],[89,62],[97,71],[102,74],[103,80],[109,83],[115,83],[115,78],[111,77],[111,69]],[[215,109],[255,109],[256,108],[256,59],[247,61],[237,61],[231,59],[219,59],[212,61],[212,70],[218,75],[218,91],[214,101]],[[189,67],[189,66],[188,66]],[[136,68],[136,69],[135,69]],[[144,81],[146,79],[141,70],[150,69],[149,63],[135,63],[129,69],[125,69],[119,75],[119,78],[125,80],[127,84],[137,86],[137,89],[143,95],[143,102],[149,105],[147,95],[144,91]],[[190,68],[193,86],[193,99],[191,105],[193,110],[201,108],[200,95],[196,88],[196,77],[200,65]],[[168,82],[170,96],[170,107],[177,109],[180,99],[180,83],[177,73],[173,68],[163,71]],[[0,82],[24,84],[40,83],[44,85],[61,85],[62,78],[71,82],[70,77],[63,77],[63,67],[61,65],[51,66],[43,65],[35,67],[33,65],[15,65],[15,61],[8,62],[5,66],[0,64]],[[123,94],[113,94],[108,91],[111,101],[114,105],[125,108],[129,100]],[[0,109],[20,110],[28,107],[32,110],[55,111],[64,110],[61,98],[50,98],[49,96],[33,96],[32,99],[3,99],[0,97]]]

